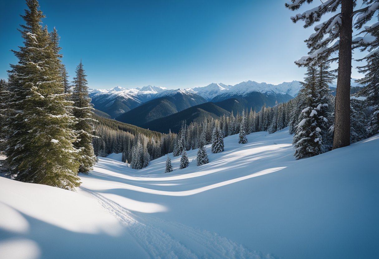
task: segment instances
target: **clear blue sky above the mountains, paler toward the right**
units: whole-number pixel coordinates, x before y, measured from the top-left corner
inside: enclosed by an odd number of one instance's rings
[[[82,59],[89,86],[99,89],[302,80],[305,70],[293,61],[307,54],[303,41],[313,32],[291,22],[297,12],[285,0],[39,2],[44,24],[61,36],[69,75]],[[0,78],[7,78],[26,4],[0,3]],[[352,77],[362,75],[354,69]]]

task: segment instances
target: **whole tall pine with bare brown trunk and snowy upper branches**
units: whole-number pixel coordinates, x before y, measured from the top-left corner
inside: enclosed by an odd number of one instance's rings
[[[297,10],[306,0],[291,0],[285,6],[291,10]],[[354,0],[328,0],[321,5],[312,8],[302,14],[296,14],[291,20],[296,23],[304,20],[304,28],[320,22],[321,17],[327,13],[335,13],[328,20],[315,26],[315,33],[305,40],[310,48],[309,55],[302,57],[295,63],[298,66],[315,65],[327,61],[333,53],[338,51],[338,57],[329,61],[338,60],[337,93],[335,98],[334,140],[333,149],[345,147],[350,144],[350,75],[352,60],[352,44],[359,44],[362,39],[358,37],[352,40],[352,27],[360,30],[366,22],[371,20],[375,11],[379,8],[377,0],[363,0],[362,5],[354,10]],[[341,12],[339,6],[341,5]],[[357,19],[353,17],[356,16]],[[325,35],[328,37],[324,38]]]

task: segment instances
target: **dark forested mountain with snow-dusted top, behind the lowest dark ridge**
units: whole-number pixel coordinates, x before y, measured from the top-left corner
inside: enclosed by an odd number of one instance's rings
[[[152,120],[166,117],[206,102],[200,95],[185,90],[167,90],[157,94],[156,97],[156,99],[119,115],[116,120],[142,126]]]

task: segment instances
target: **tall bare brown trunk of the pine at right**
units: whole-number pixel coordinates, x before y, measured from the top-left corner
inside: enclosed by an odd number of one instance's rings
[[[333,149],[350,145],[350,78],[353,0],[341,3],[342,24],[335,96]]]

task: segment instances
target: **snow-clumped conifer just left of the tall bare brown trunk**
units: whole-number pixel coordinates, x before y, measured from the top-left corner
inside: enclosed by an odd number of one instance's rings
[[[304,109],[299,115],[299,124],[293,137],[295,148],[294,156],[296,159],[316,156],[323,152],[323,143],[321,136],[320,119],[318,118],[318,104],[316,99],[319,98],[317,92],[317,70],[315,66],[307,68],[307,77],[302,84],[302,92],[307,93],[304,99]],[[323,119],[321,125],[323,123]]]

